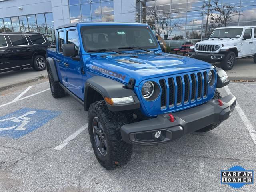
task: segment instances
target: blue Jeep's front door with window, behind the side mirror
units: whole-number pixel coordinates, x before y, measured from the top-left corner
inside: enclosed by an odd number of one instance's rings
[[[66,43],[74,44],[76,56],[80,56],[79,44],[76,29],[66,31]],[[71,57],[65,57],[66,75],[68,77],[68,89],[79,98],[84,98],[84,86],[82,80],[82,57],[80,60],[74,60]]]

